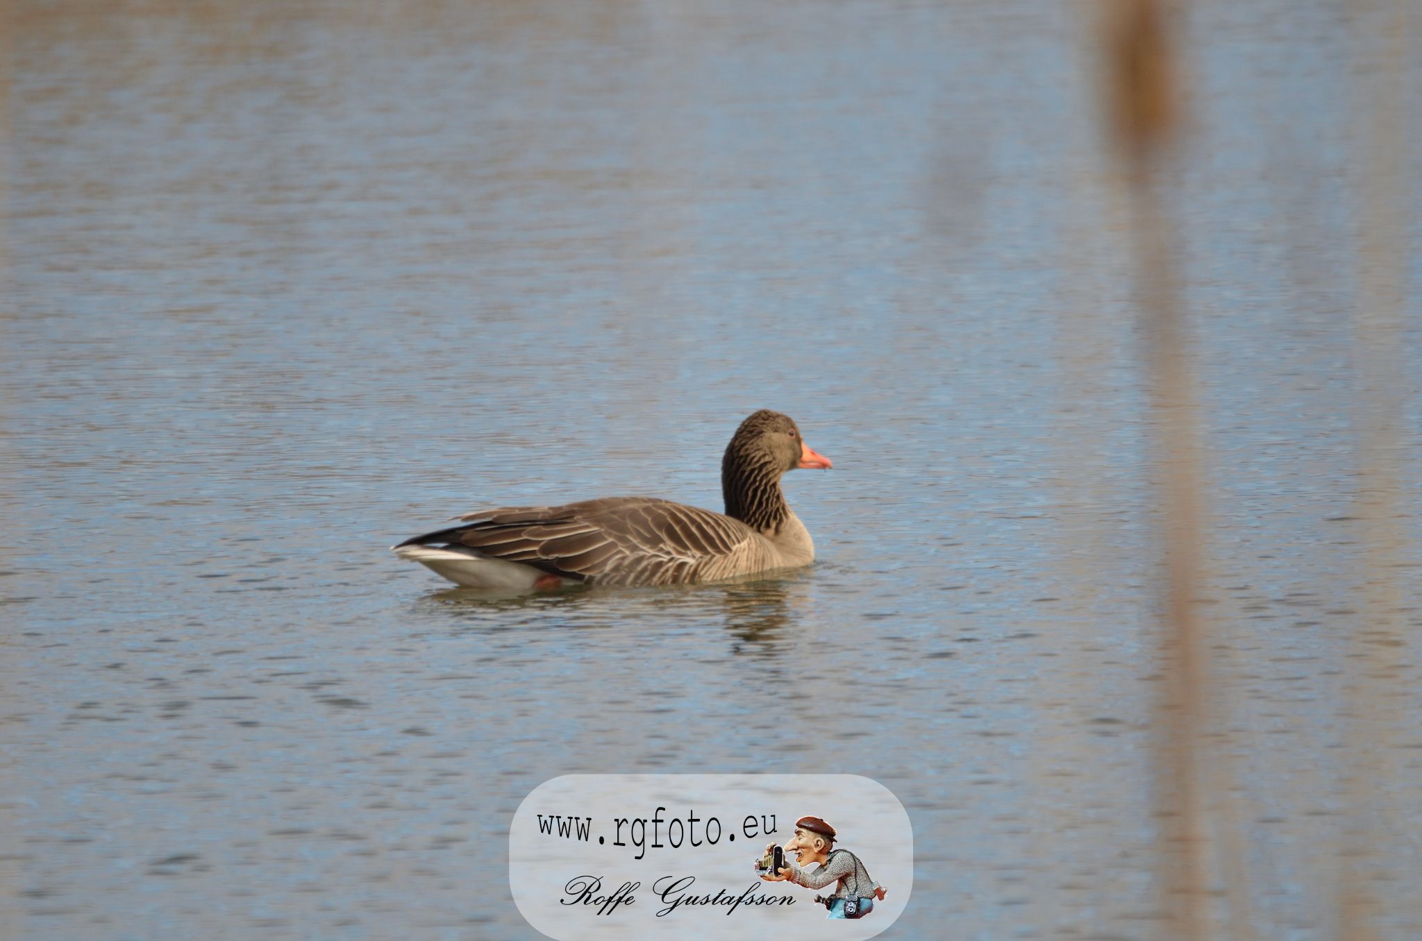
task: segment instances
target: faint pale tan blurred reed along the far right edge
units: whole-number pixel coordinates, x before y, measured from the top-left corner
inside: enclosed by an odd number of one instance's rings
[[[1392,704],[1408,687],[1408,648],[1399,617],[1405,603],[1398,584],[1398,573],[1412,570],[1405,564],[1409,553],[1398,522],[1404,513],[1398,453],[1409,388],[1402,343],[1409,257],[1404,217],[1409,193],[1402,172],[1408,21],[1401,0],[1391,10],[1381,0],[1358,0],[1354,7],[1357,104],[1367,122],[1354,311],[1355,515],[1362,520],[1364,570],[1358,573],[1361,620],[1345,660],[1342,708],[1349,728],[1349,770],[1337,937],[1371,941],[1378,937],[1376,921],[1384,911],[1367,883],[1388,878],[1388,873],[1369,857],[1376,846],[1386,844],[1395,826],[1408,826],[1395,819],[1395,806],[1378,786],[1404,773],[1392,766],[1398,759],[1389,726],[1399,719]]]

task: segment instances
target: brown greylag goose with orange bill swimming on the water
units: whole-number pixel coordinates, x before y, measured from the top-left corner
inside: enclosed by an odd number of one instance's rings
[[[815,543],[781,493],[795,468],[830,468],[799,428],[761,409],[721,459],[725,513],[648,496],[465,513],[459,526],[407,539],[397,556],[469,588],[587,583],[688,584],[806,566]]]

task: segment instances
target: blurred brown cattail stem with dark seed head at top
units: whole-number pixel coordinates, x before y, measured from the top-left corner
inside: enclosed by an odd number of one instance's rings
[[[1185,316],[1172,260],[1173,230],[1160,198],[1160,163],[1176,124],[1176,78],[1155,0],[1118,0],[1108,18],[1108,107],[1129,171],[1136,279],[1146,327],[1155,453],[1163,472],[1160,505],[1165,584],[1156,701],[1156,820],[1160,908],[1170,934],[1203,938],[1206,903],[1204,800],[1197,753],[1209,681],[1200,587],[1200,473],[1196,397]]]

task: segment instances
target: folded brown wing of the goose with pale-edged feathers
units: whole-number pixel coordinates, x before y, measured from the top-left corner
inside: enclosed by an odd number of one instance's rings
[[[678,584],[735,574],[757,539],[745,523],[684,503],[621,496],[478,510],[402,544],[465,547],[594,584]]]

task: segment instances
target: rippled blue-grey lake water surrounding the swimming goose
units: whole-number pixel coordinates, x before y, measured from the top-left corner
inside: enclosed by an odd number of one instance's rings
[[[528,938],[523,795],[657,770],[893,789],[886,938],[1170,934],[1160,468],[1076,4],[9,20],[0,934]],[[1209,819],[1263,938],[1334,937],[1349,863],[1376,937],[1422,934],[1422,98],[1365,94],[1422,87],[1422,21],[1394,60],[1381,23],[1177,34]],[[811,569],[489,601],[387,552],[489,503],[720,509],[757,408],[835,461],[786,479]]]

